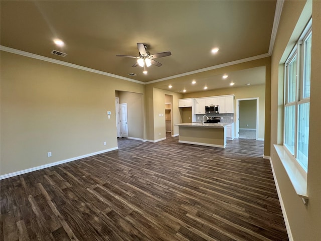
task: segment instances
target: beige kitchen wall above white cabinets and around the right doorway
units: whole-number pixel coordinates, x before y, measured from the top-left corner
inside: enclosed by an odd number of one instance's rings
[[[264,130],[265,130],[265,127],[264,127],[265,126],[264,125],[265,124],[264,123],[265,122],[265,85],[264,84],[188,93],[188,94],[184,94],[184,98],[199,98],[199,97],[228,95],[228,94],[235,94],[234,120],[236,119],[236,99],[255,98],[255,97],[259,98],[258,100],[259,101],[258,135],[260,139],[264,139]]]

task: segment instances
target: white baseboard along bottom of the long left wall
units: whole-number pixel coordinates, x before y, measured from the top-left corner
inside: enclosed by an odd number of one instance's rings
[[[114,150],[117,150],[117,149],[118,149],[118,147],[113,147],[113,148],[109,148],[109,149],[106,149],[106,150],[85,154],[85,155],[78,156],[78,157],[72,157],[72,158],[69,158],[69,159],[66,159],[66,160],[62,160],[62,161],[58,161],[58,162],[52,162],[52,163],[49,163],[49,164],[28,168],[28,169],[21,170],[21,171],[18,171],[18,172],[8,173],[8,174],[5,174],[5,175],[1,175],[0,176],[0,180],[6,179],[6,178],[9,178],[9,177],[15,177],[15,176],[18,176],[18,175],[21,175],[21,174],[25,174],[25,173],[28,173],[28,172],[41,170],[41,169],[44,169],[44,168],[47,168],[47,167],[60,165],[60,164],[67,163],[67,162],[76,161],[76,160],[79,160],[79,159],[82,159],[82,158],[85,158],[85,157],[91,157],[91,156],[98,155],[98,154],[101,154],[101,153],[114,151]]]

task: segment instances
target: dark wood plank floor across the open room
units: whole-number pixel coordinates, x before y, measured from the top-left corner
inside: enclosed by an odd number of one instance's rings
[[[263,142],[119,139],[1,181],[1,240],[288,240]]]

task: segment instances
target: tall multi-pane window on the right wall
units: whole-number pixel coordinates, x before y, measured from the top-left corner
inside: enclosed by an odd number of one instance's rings
[[[311,20],[285,62],[284,75],[284,138],[283,145],[307,172]]]

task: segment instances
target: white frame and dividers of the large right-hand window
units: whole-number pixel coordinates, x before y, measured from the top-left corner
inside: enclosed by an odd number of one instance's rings
[[[311,35],[312,30],[312,19],[308,22],[307,26],[305,27],[304,31],[302,32],[300,38],[298,39],[296,45],[294,46],[293,50],[289,54],[287,60],[285,61],[284,65],[284,105],[283,105],[283,119],[284,119],[284,132],[283,132],[283,145],[285,150],[287,151],[288,155],[291,155],[295,158],[296,162],[299,164],[299,168],[302,169],[307,173],[307,166],[303,166],[300,161],[297,159],[297,149],[298,149],[298,106],[303,103],[309,103],[310,97],[303,98],[303,74],[304,74],[304,42],[305,40]],[[288,102],[288,85],[289,85],[289,69],[288,65],[291,63],[293,58],[296,56],[296,95],[295,100]],[[285,107],[288,106],[295,106],[295,131],[294,131],[294,150],[293,153],[290,152],[285,142],[285,132],[286,132],[286,123],[285,123]]]

